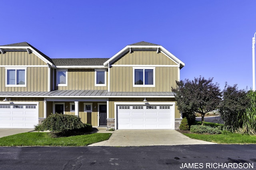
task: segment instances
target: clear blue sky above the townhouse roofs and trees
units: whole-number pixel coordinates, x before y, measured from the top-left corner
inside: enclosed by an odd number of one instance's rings
[[[0,45],[28,42],[51,58],[110,58],[126,45],[162,45],[181,80],[214,77],[252,88],[255,0],[3,0]]]

